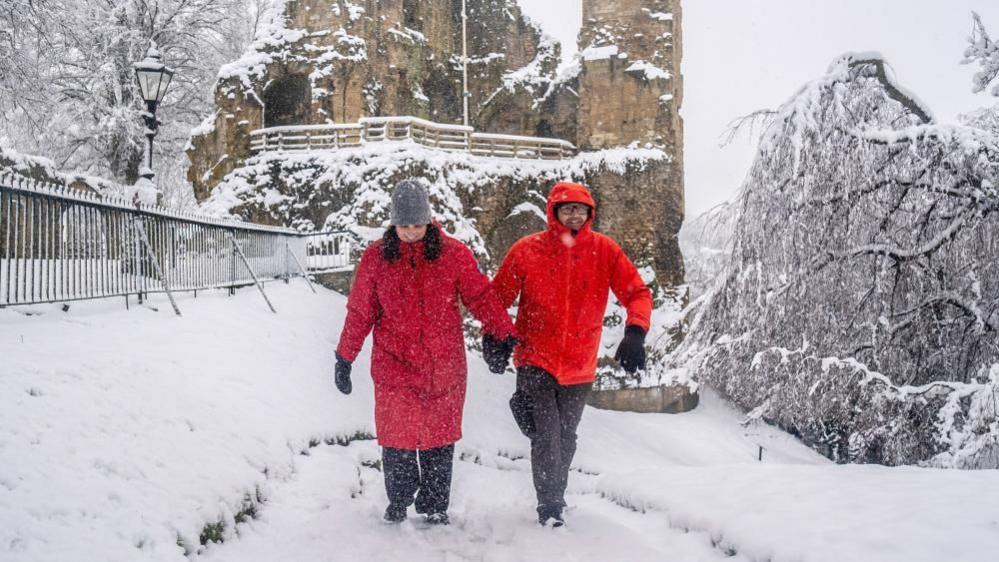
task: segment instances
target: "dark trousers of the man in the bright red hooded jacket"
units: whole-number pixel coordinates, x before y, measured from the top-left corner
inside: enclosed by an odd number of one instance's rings
[[[565,507],[569,466],[576,454],[576,427],[592,388],[592,383],[562,386],[538,367],[517,369],[517,391],[510,407],[521,431],[531,439],[539,513]]]

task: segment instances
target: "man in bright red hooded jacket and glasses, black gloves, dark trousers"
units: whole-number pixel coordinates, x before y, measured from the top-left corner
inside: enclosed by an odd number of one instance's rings
[[[609,291],[628,311],[615,358],[628,372],[645,366],[652,293],[609,237],[593,232],[596,204],[586,187],[558,183],[548,196],[548,229],[520,239],[503,260],[493,288],[517,311],[517,391],[510,400],[531,439],[538,522],[564,524],[565,488],[576,452],[576,427],[596,377]],[[487,335],[489,366],[502,371],[513,340]]]

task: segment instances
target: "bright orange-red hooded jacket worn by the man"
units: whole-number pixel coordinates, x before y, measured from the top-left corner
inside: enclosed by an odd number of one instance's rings
[[[558,203],[593,209],[575,236],[555,217]],[[514,364],[540,367],[562,385],[593,382],[610,290],[628,310],[627,325],[647,331],[652,314],[652,293],[631,260],[590,229],[595,213],[584,186],[555,184],[548,195],[548,229],[517,241],[493,279],[504,307],[520,297]]]

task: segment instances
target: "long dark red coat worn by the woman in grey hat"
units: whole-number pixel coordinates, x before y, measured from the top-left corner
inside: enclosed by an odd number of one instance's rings
[[[375,428],[385,447],[433,449],[461,438],[467,367],[459,299],[487,333],[514,334],[472,252],[441,238],[441,256],[432,262],[422,241],[400,242],[402,258],[394,263],[383,257],[382,241],[369,246],[347,301],[337,353],[353,362],[374,329]]]

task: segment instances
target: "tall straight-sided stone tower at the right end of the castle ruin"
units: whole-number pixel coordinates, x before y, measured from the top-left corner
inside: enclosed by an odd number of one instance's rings
[[[650,144],[672,157],[644,183],[608,178],[613,188],[601,190],[601,226],[629,245],[673,247],[683,222],[681,15],[680,0],[583,0],[577,145]],[[682,282],[679,250],[656,260],[657,271]]]

